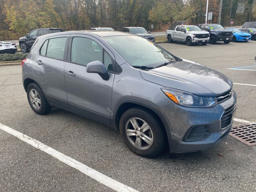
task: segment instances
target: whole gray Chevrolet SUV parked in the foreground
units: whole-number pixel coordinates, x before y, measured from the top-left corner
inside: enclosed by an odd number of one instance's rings
[[[215,145],[236,111],[229,78],[123,32],[40,36],[22,61],[22,82],[37,114],[56,106],[97,120],[146,157]]]

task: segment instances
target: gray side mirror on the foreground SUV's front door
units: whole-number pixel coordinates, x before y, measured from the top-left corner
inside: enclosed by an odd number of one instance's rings
[[[87,64],[86,71],[88,73],[98,73],[103,80],[108,80],[109,75],[104,66],[104,64],[100,61],[93,61]]]

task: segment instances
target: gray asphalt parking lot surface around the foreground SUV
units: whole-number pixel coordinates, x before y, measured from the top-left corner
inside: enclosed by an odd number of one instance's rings
[[[178,57],[227,75],[238,97],[234,125],[256,122],[256,41],[159,45]],[[59,108],[44,116],[35,114],[22,86],[21,66],[0,66],[0,114],[0,124],[98,171],[94,172],[95,178],[107,176],[98,182],[84,173],[90,172],[89,168],[81,172],[62,162],[63,157],[56,158],[0,130],[3,192],[107,192],[114,191],[119,182],[130,187],[123,191],[256,191],[256,146],[248,147],[228,136],[206,151],[166,151],[158,158],[142,158],[128,150],[120,134],[104,124]]]

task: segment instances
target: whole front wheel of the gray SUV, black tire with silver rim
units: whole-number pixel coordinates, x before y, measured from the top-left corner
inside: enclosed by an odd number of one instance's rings
[[[138,130],[132,125],[134,120],[137,122]],[[148,125],[146,126],[148,130],[142,132],[140,128],[144,123]],[[154,113],[144,108],[134,107],[124,112],[120,118],[119,129],[126,146],[137,155],[154,157],[159,155],[166,146],[166,133],[162,124]],[[132,135],[127,136],[127,134]],[[140,141],[137,145],[136,140]]]

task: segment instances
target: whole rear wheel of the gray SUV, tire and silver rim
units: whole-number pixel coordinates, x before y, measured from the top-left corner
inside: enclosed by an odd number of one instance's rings
[[[28,98],[28,103],[30,107],[36,114],[43,115],[50,112],[51,106],[48,104],[42,90],[37,84],[31,83],[28,86],[27,98]],[[40,104],[39,104],[39,101],[40,101]]]

